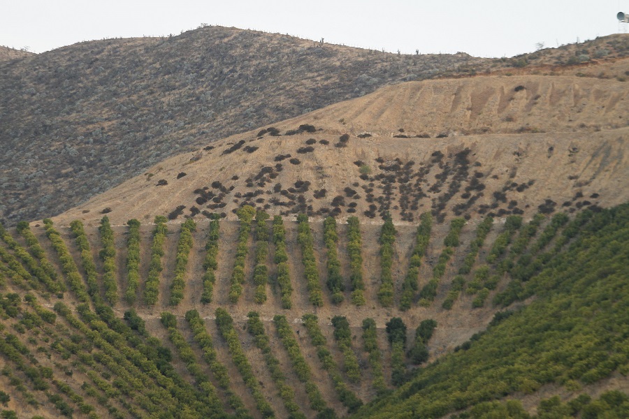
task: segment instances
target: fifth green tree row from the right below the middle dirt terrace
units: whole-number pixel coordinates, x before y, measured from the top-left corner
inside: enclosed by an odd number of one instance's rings
[[[315,314],[304,314],[302,320],[306,330],[308,330],[308,336],[310,336],[312,346],[317,348],[317,357],[321,362],[321,367],[323,367],[323,369],[328,372],[330,378],[332,378],[338,399],[343,406],[347,407],[349,413],[356,411],[363,405],[363,402],[349,389],[345,381],[343,381],[342,376],[339,374],[334,358],[326,348],[326,337],[324,337],[321,333],[321,328],[319,328],[319,319]]]

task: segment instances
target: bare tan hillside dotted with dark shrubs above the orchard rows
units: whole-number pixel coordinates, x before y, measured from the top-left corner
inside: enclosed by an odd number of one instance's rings
[[[55,220],[233,217],[249,204],[417,222],[617,205],[629,199],[624,87],[543,75],[396,84],[173,157]]]

